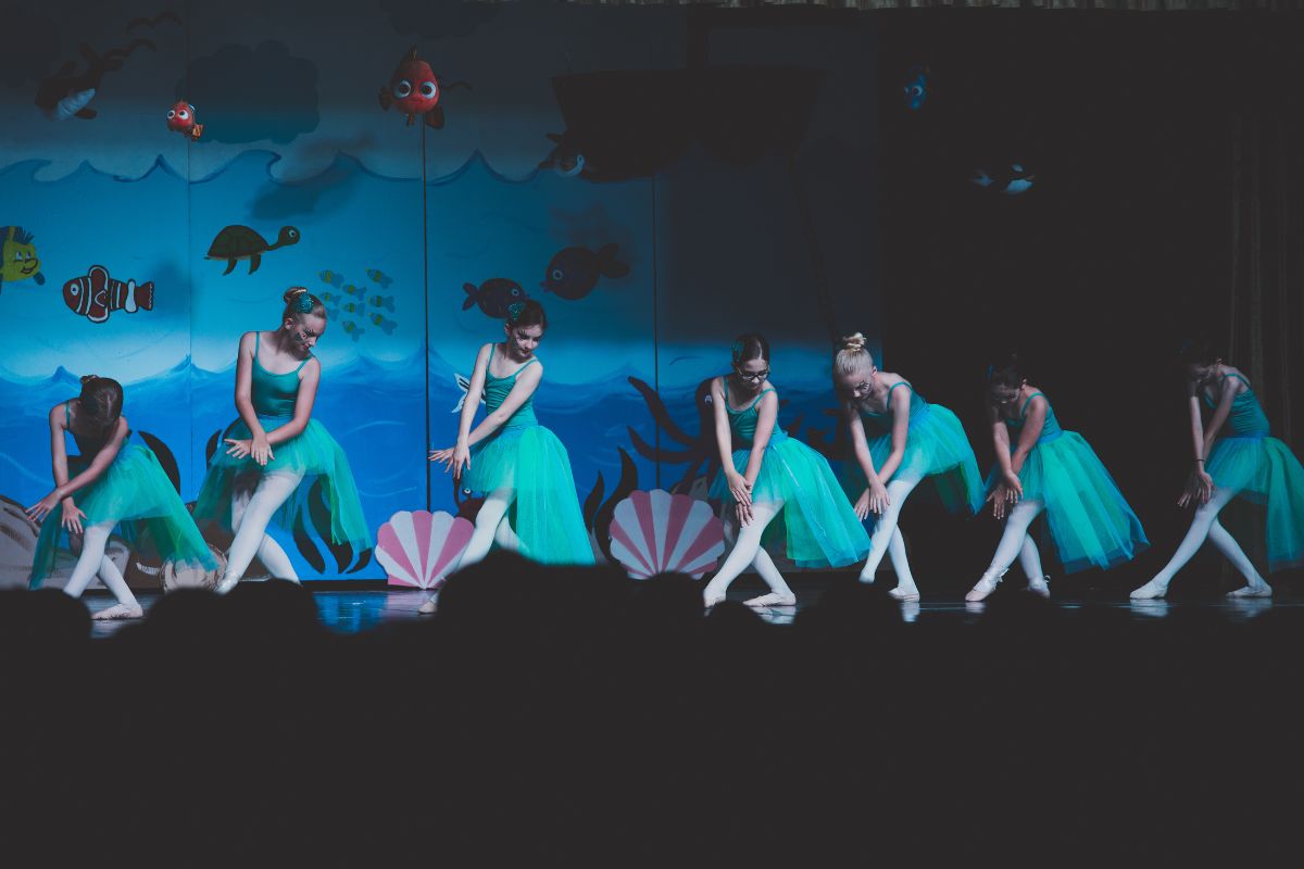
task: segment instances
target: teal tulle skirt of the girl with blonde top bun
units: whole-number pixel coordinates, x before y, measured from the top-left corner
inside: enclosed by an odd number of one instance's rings
[[[870,438],[868,447],[874,466],[882,468],[892,453],[892,434]],[[978,460],[960,420],[940,404],[930,404],[926,410],[910,417],[905,455],[893,477],[906,473],[930,478],[941,503],[952,513],[977,513],[982,508],[983,478]],[[842,463],[840,481],[852,503],[866,489],[865,473],[855,459]],[[870,521],[874,521],[872,515]]]

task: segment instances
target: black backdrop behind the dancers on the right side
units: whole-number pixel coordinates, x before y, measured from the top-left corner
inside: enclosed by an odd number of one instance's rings
[[[1231,117],[1299,117],[1300,20],[930,10],[882,23],[885,367],[951,406],[987,468],[986,363],[1016,347],[1150,537],[1137,562],[1077,588],[1140,585],[1189,522],[1175,507],[1191,448],[1174,353],[1191,331],[1228,331]],[[914,65],[930,70],[919,112],[901,91]],[[1034,176],[1021,195],[969,181],[1012,162]],[[999,535],[990,519],[922,506],[902,528],[925,588],[970,584]],[[1188,571],[1179,594],[1240,584],[1208,551]]]

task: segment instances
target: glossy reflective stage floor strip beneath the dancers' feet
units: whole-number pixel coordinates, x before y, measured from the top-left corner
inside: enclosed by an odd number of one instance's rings
[[[792,624],[793,619],[805,607],[814,605],[819,601],[820,595],[832,582],[832,578],[825,577],[803,577],[801,584],[797,585],[797,606],[792,607],[769,607],[759,608],[756,612],[771,624]],[[891,577],[888,578],[888,586],[893,584]],[[734,584],[735,588],[730,589],[729,599],[746,601],[751,597],[764,593],[764,588],[759,582],[742,581]],[[321,623],[339,633],[360,633],[363,631],[369,631],[386,624],[415,621],[424,619],[417,614],[417,607],[426,598],[425,591],[412,590],[412,589],[390,589],[390,588],[377,588],[374,590],[365,589],[342,589],[333,590],[331,582],[318,581],[309,584],[309,589],[313,593],[313,598],[317,602],[317,615]],[[1054,589],[1054,586],[1052,586]],[[1018,594],[1016,588],[1000,588],[996,595]],[[996,595],[992,599],[996,599]],[[137,595],[141,605],[146,611],[162,597],[159,593],[142,593]],[[113,599],[108,597],[107,593],[89,593],[85,597],[86,606],[91,612],[96,610],[103,610],[112,606]],[[1277,589],[1277,597],[1267,599],[1232,599],[1232,598],[1183,598],[1176,599],[1163,599],[1163,601],[1128,601],[1128,599],[1102,599],[1102,598],[1052,598],[1051,602],[1067,611],[1081,611],[1088,607],[1110,607],[1112,610],[1121,610],[1132,616],[1133,621],[1162,621],[1172,614],[1189,612],[1192,610],[1202,610],[1206,614],[1215,615],[1217,618],[1224,620],[1227,624],[1244,623],[1264,612],[1273,610],[1290,608],[1299,611],[1304,615],[1304,599],[1296,599],[1288,593],[1287,589]],[[928,624],[977,624],[983,618],[983,611],[986,603],[966,603],[958,594],[938,594],[936,597],[927,597],[923,601],[914,603],[901,603],[898,605],[901,610],[901,620],[905,623],[928,623]],[[95,621],[93,636],[94,637],[108,637],[115,632],[121,629],[125,624],[123,621]]]

